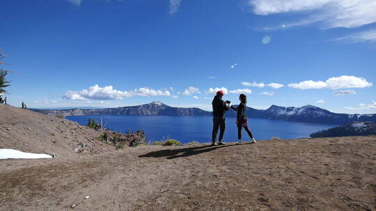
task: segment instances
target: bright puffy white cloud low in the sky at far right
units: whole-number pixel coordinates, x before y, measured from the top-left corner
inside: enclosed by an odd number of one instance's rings
[[[372,86],[365,78],[355,76],[340,76],[329,78],[327,81],[302,81],[300,83],[290,83],[289,87],[308,90],[308,89],[346,89],[346,88],[364,88]]]

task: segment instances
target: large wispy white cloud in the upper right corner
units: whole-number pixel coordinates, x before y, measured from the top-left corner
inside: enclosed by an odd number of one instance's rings
[[[249,0],[249,6],[256,15],[303,14],[297,23],[287,26],[320,23],[323,28],[354,28],[376,22],[373,0]]]

